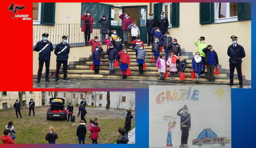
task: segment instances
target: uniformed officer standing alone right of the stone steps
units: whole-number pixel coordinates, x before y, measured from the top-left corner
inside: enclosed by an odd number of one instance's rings
[[[243,88],[243,76],[242,76],[242,58],[245,57],[244,48],[237,44],[237,38],[236,36],[231,36],[232,43],[228,47],[228,56],[229,58],[229,69],[230,69],[230,82],[228,85],[234,85],[233,84],[233,77],[234,77],[234,69],[236,68],[238,80],[239,80],[239,88]]]

